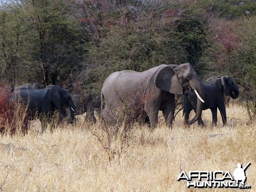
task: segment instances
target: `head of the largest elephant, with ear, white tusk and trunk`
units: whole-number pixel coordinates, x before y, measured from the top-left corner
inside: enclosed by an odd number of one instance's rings
[[[163,66],[156,75],[157,88],[172,94],[184,95],[185,90],[194,90],[197,97],[197,111],[195,117],[189,122],[194,123],[202,115],[204,103],[204,89],[197,73],[189,63]]]

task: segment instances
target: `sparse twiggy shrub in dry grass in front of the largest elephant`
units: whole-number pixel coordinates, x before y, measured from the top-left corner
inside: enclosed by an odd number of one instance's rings
[[[105,109],[101,114],[99,127],[90,129],[111,163],[119,162],[135,140],[132,128],[139,116],[143,114],[144,98],[140,98],[140,95],[137,92],[131,100],[125,103],[120,102],[118,107]]]

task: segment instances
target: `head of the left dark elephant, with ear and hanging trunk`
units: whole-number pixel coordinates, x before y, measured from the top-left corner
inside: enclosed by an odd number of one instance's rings
[[[50,88],[50,100],[60,112],[61,118],[66,116],[65,108],[70,107],[71,122],[73,122],[75,120],[75,105],[70,92],[55,85],[48,86],[48,88]]]

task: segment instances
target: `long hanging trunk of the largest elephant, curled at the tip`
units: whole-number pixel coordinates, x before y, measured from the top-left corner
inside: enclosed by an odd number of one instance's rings
[[[190,84],[191,88],[194,89],[194,91],[197,95],[197,108],[196,108],[195,117],[188,123],[189,125],[192,125],[202,115],[203,104],[204,104],[204,88],[203,88],[200,80],[198,79],[198,77],[197,77],[197,80],[194,80],[189,84]]]

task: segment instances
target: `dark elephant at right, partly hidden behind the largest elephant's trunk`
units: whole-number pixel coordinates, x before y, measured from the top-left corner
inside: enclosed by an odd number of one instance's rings
[[[229,76],[210,77],[205,82],[202,82],[204,87],[204,105],[203,110],[211,109],[212,123],[217,124],[217,108],[219,109],[222,117],[223,125],[227,123],[226,106],[224,103],[224,94],[236,99],[239,96],[239,88],[234,83],[233,79]],[[197,99],[194,92],[186,90],[183,96],[183,112],[184,124],[189,123],[189,113],[193,109],[197,109]],[[199,125],[205,125],[202,118],[198,119]]]

